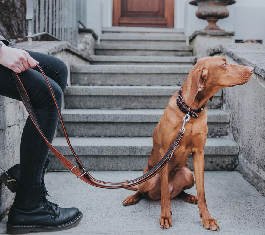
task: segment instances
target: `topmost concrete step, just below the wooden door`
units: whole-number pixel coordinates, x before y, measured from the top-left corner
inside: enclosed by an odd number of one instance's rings
[[[150,36],[184,36],[184,29],[148,28],[148,27],[103,27],[103,34],[126,34],[128,36],[141,34]]]

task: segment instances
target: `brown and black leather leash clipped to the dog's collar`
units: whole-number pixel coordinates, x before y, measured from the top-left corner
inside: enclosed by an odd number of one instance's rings
[[[50,85],[46,75],[44,74],[43,70],[41,69],[41,67],[39,67],[39,65],[36,65],[36,66],[39,68],[40,72],[42,73],[44,79],[46,80],[46,82],[47,82],[47,84],[49,86],[52,98],[53,98],[53,100],[55,102],[56,109],[57,109],[58,114],[59,114],[61,125],[62,125],[63,131],[64,131],[64,136],[65,136],[65,138],[67,140],[68,146],[71,149],[71,152],[73,153],[73,156],[76,159],[76,162],[77,162],[79,168],[77,168],[76,165],[74,165],[71,161],[69,161],[66,157],[64,157],[64,155],[62,155],[57,149],[55,149],[55,147],[52,146],[52,144],[45,137],[45,135],[43,134],[43,132],[42,132],[42,130],[40,128],[38,120],[36,118],[36,115],[35,115],[35,112],[33,110],[33,107],[32,107],[30,98],[29,98],[29,96],[27,94],[27,91],[26,91],[25,87],[23,86],[18,74],[15,73],[14,71],[12,71],[14,82],[15,82],[15,84],[17,86],[17,89],[18,89],[18,92],[20,94],[21,100],[22,100],[23,104],[25,105],[25,108],[26,108],[26,110],[27,110],[27,112],[29,114],[30,119],[32,120],[33,124],[35,125],[35,127],[37,128],[37,130],[39,131],[41,136],[43,137],[45,143],[47,144],[47,146],[49,147],[51,152],[61,161],[61,163],[64,164],[64,166],[71,173],[76,175],[77,178],[85,181],[86,183],[89,183],[92,186],[96,186],[96,187],[100,187],[100,188],[108,188],[108,189],[110,189],[110,188],[112,188],[112,189],[127,188],[127,187],[131,187],[131,186],[140,184],[140,183],[150,179],[151,177],[153,177],[154,175],[159,173],[165,167],[165,165],[170,161],[174,151],[179,146],[179,142],[180,142],[180,140],[181,140],[181,138],[182,138],[182,136],[183,136],[183,134],[185,132],[185,127],[184,127],[185,123],[187,121],[189,121],[189,119],[190,119],[189,111],[187,112],[185,117],[183,117],[183,125],[182,125],[182,127],[181,127],[181,129],[180,129],[175,141],[172,143],[172,145],[170,146],[170,148],[168,149],[168,151],[166,152],[164,157],[150,171],[148,171],[146,174],[144,174],[144,175],[142,175],[142,176],[140,176],[140,177],[138,177],[138,178],[136,178],[134,180],[130,180],[130,181],[127,181],[127,182],[115,182],[115,183],[114,182],[105,182],[105,181],[101,181],[101,180],[97,180],[97,179],[93,178],[89,174],[89,172],[84,168],[82,162],[80,161],[80,159],[77,157],[75,151],[73,150],[73,147],[72,147],[72,145],[70,143],[70,140],[69,140],[69,138],[67,136],[67,132],[65,130],[65,126],[64,126],[63,119],[62,119],[62,115],[61,115],[61,112],[60,112],[60,110],[58,108],[58,104],[57,104],[55,95],[54,95],[54,93],[52,91],[51,85]],[[109,186],[109,185],[120,185],[120,184],[122,184],[122,185],[121,186]]]

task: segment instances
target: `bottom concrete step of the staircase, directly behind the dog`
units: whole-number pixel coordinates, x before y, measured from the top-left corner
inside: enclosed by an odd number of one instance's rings
[[[70,142],[86,169],[90,171],[143,170],[152,149],[151,137],[70,137]],[[75,162],[64,137],[56,137],[52,144]],[[238,153],[238,144],[229,138],[207,138],[204,149],[205,169],[236,170]],[[54,155],[49,158],[49,171],[65,170],[64,165]],[[192,164],[190,167],[192,169]]]

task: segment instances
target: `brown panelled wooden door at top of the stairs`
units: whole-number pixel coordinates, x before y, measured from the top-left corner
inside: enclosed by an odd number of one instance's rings
[[[174,0],[113,0],[112,25],[174,27]]]

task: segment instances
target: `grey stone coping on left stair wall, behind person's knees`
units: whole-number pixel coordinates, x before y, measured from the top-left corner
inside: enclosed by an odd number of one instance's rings
[[[80,49],[66,41],[33,41],[32,45],[29,45],[28,42],[20,42],[14,47],[48,55],[55,55],[63,50],[67,50],[82,59],[90,61],[90,56],[86,52],[82,52]]]

